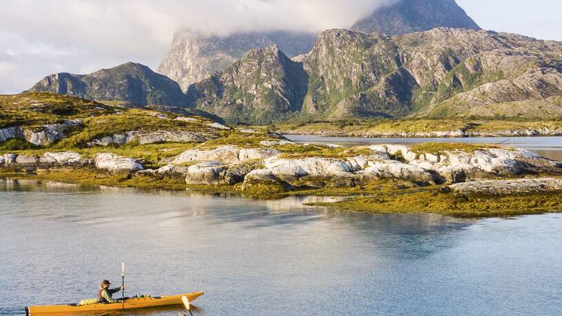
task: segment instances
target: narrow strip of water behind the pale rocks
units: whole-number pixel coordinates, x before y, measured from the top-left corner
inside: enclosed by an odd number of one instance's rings
[[[554,160],[562,160],[562,137],[467,137],[467,138],[364,138],[364,137],[323,137],[313,135],[287,135],[300,143],[331,143],[342,146],[415,143],[481,143],[505,144],[534,151]]]

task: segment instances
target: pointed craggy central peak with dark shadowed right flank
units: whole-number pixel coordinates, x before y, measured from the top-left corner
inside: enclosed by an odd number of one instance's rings
[[[191,85],[187,96],[229,122],[271,123],[300,111],[306,78],[302,63],[271,45],[250,50],[224,72]]]

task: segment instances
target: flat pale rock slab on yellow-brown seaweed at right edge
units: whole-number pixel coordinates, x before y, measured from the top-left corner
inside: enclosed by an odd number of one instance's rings
[[[479,180],[457,183],[449,188],[457,194],[521,194],[562,190],[562,179],[536,178],[513,180]]]

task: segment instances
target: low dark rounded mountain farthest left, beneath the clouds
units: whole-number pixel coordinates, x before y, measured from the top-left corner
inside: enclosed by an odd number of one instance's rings
[[[92,74],[51,74],[29,91],[90,100],[127,101],[136,105],[187,105],[178,83],[138,63],[124,63]]]

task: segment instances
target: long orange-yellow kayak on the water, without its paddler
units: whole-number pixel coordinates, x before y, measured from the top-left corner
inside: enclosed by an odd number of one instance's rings
[[[194,299],[203,295],[202,292],[194,292],[180,295],[172,296],[156,296],[156,297],[130,297],[125,298],[123,302],[111,303],[111,304],[66,304],[66,305],[51,305],[51,306],[29,306],[25,308],[26,315],[39,315],[39,314],[73,314],[73,313],[83,313],[83,312],[96,312],[96,311],[108,311],[108,310],[123,310],[123,309],[134,309],[134,308],[147,308],[147,307],[159,307],[159,306],[173,306],[181,305],[182,296],[186,296],[189,302],[193,302]]]

